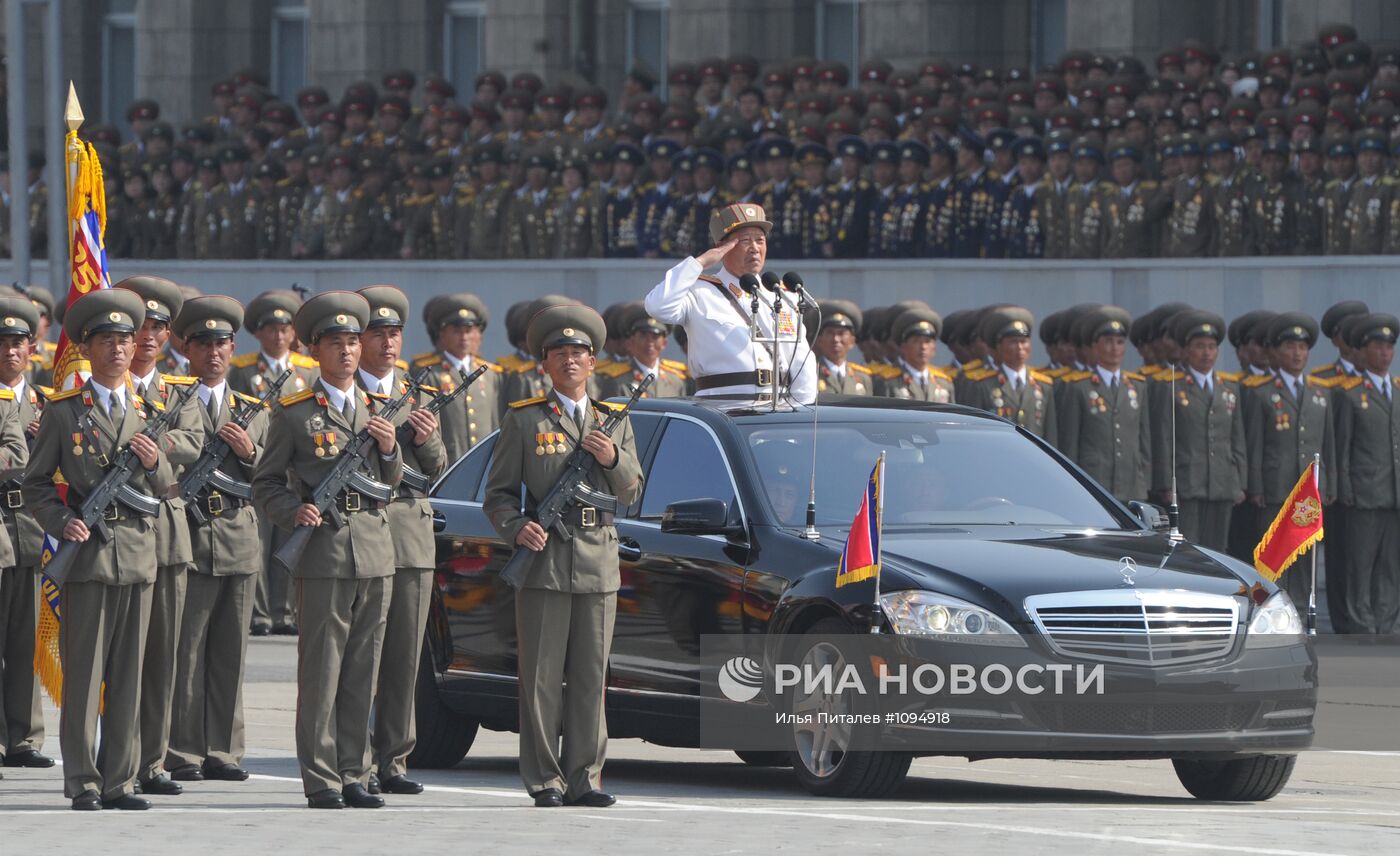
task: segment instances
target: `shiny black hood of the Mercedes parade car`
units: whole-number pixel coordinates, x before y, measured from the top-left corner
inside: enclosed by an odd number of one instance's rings
[[[1102,588],[1243,594],[1239,562],[1161,532],[941,527],[885,530],[881,588],[930,588],[1025,619],[1033,594]],[[1131,569],[1131,573],[1124,573]]]

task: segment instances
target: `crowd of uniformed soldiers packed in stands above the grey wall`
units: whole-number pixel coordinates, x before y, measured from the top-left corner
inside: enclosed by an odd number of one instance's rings
[[[854,76],[735,56],[672,66],[668,101],[658,83],[634,69],[610,101],[533,73],[456,92],[399,70],[291,105],[245,70],[178,130],[143,99],[130,141],[83,134],[116,258],[676,258],[732,202],[770,213],[773,258],[1400,251],[1400,49],[1350,25],[1228,60],[1189,41],[1155,74],[1085,50]],[[42,157],[27,167],[42,254]]]

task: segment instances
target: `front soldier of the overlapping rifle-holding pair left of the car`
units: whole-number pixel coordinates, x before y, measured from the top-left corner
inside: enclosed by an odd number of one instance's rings
[[[321,363],[311,389],[281,399],[253,469],[253,502],[279,527],[314,527],[297,577],[297,761],[311,808],[378,808],[370,780],[374,702],[393,576],[393,534],[384,506],[353,489],[335,500],[343,525],[304,500],[360,432],[372,439],[361,468],[396,489],[403,454],[378,415],[385,399],[354,384],[370,304],[323,291],[297,310],[301,340]],[[288,471],[295,485],[288,483]],[[328,511],[328,517],[329,517]]]

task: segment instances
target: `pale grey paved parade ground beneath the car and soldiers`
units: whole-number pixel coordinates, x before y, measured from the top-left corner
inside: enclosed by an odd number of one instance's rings
[[[482,731],[454,771],[382,810],[305,808],[293,747],[295,640],[255,639],[245,783],[186,783],[147,813],[78,814],[60,769],[6,769],[0,853],[1393,853],[1400,752],[1308,752],[1257,806],[1205,804],[1166,761],[914,762],[889,800],[809,796],[728,752],[613,741],[605,810],[533,808],[515,736]],[[49,748],[57,715],[48,712]]]

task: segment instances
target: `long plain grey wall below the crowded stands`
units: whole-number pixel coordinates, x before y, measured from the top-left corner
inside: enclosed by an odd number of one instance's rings
[[[1301,310],[1320,318],[1333,303],[1359,298],[1376,311],[1400,312],[1400,259],[1308,258],[1231,261],[1141,262],[781,262],[777,273],[795,269],[818,297],[846,297],[858,305],[886,305],[921,297],[941,312],[980,307],[994,301],[1026,305],[1037,318],[1086,301],[1114,303],[1138,314],[1154,305],[1182,300],[1226,319],[1254,308]],[[228,294],[246,303],[265,289],[300,282],[316,291],[360,289],[393,283],[417,307],[433,294],[475,291],[487,304],[491,324],[484,354],[508,350],[503,321],[517,300],[563,293],[598,308],[640,300],[665,275],[661,262],[130,262],[115,261],[112,277],[134,273],[168,276],[211,294]],[[0,282],[10,282],[7,261],[0,261]],[[42,262],[34,282],[45,282]],[[406,332],[406,350],[428,347],[421,325]],[[57,333],[55,333],[57,336]],[[242,336],[239,350],[252,347]],[[672,346],[673,349],[673,346]],[[680,356],[680,354],[676,354]],[[1333,359],[1330,345],[1319,345],[1317,360]],[[942,357],[939,357],[942,360]],[[1036,361],[1044,353],[1036,343]],[[1224,357],[1235,368],[1233,357]]]

